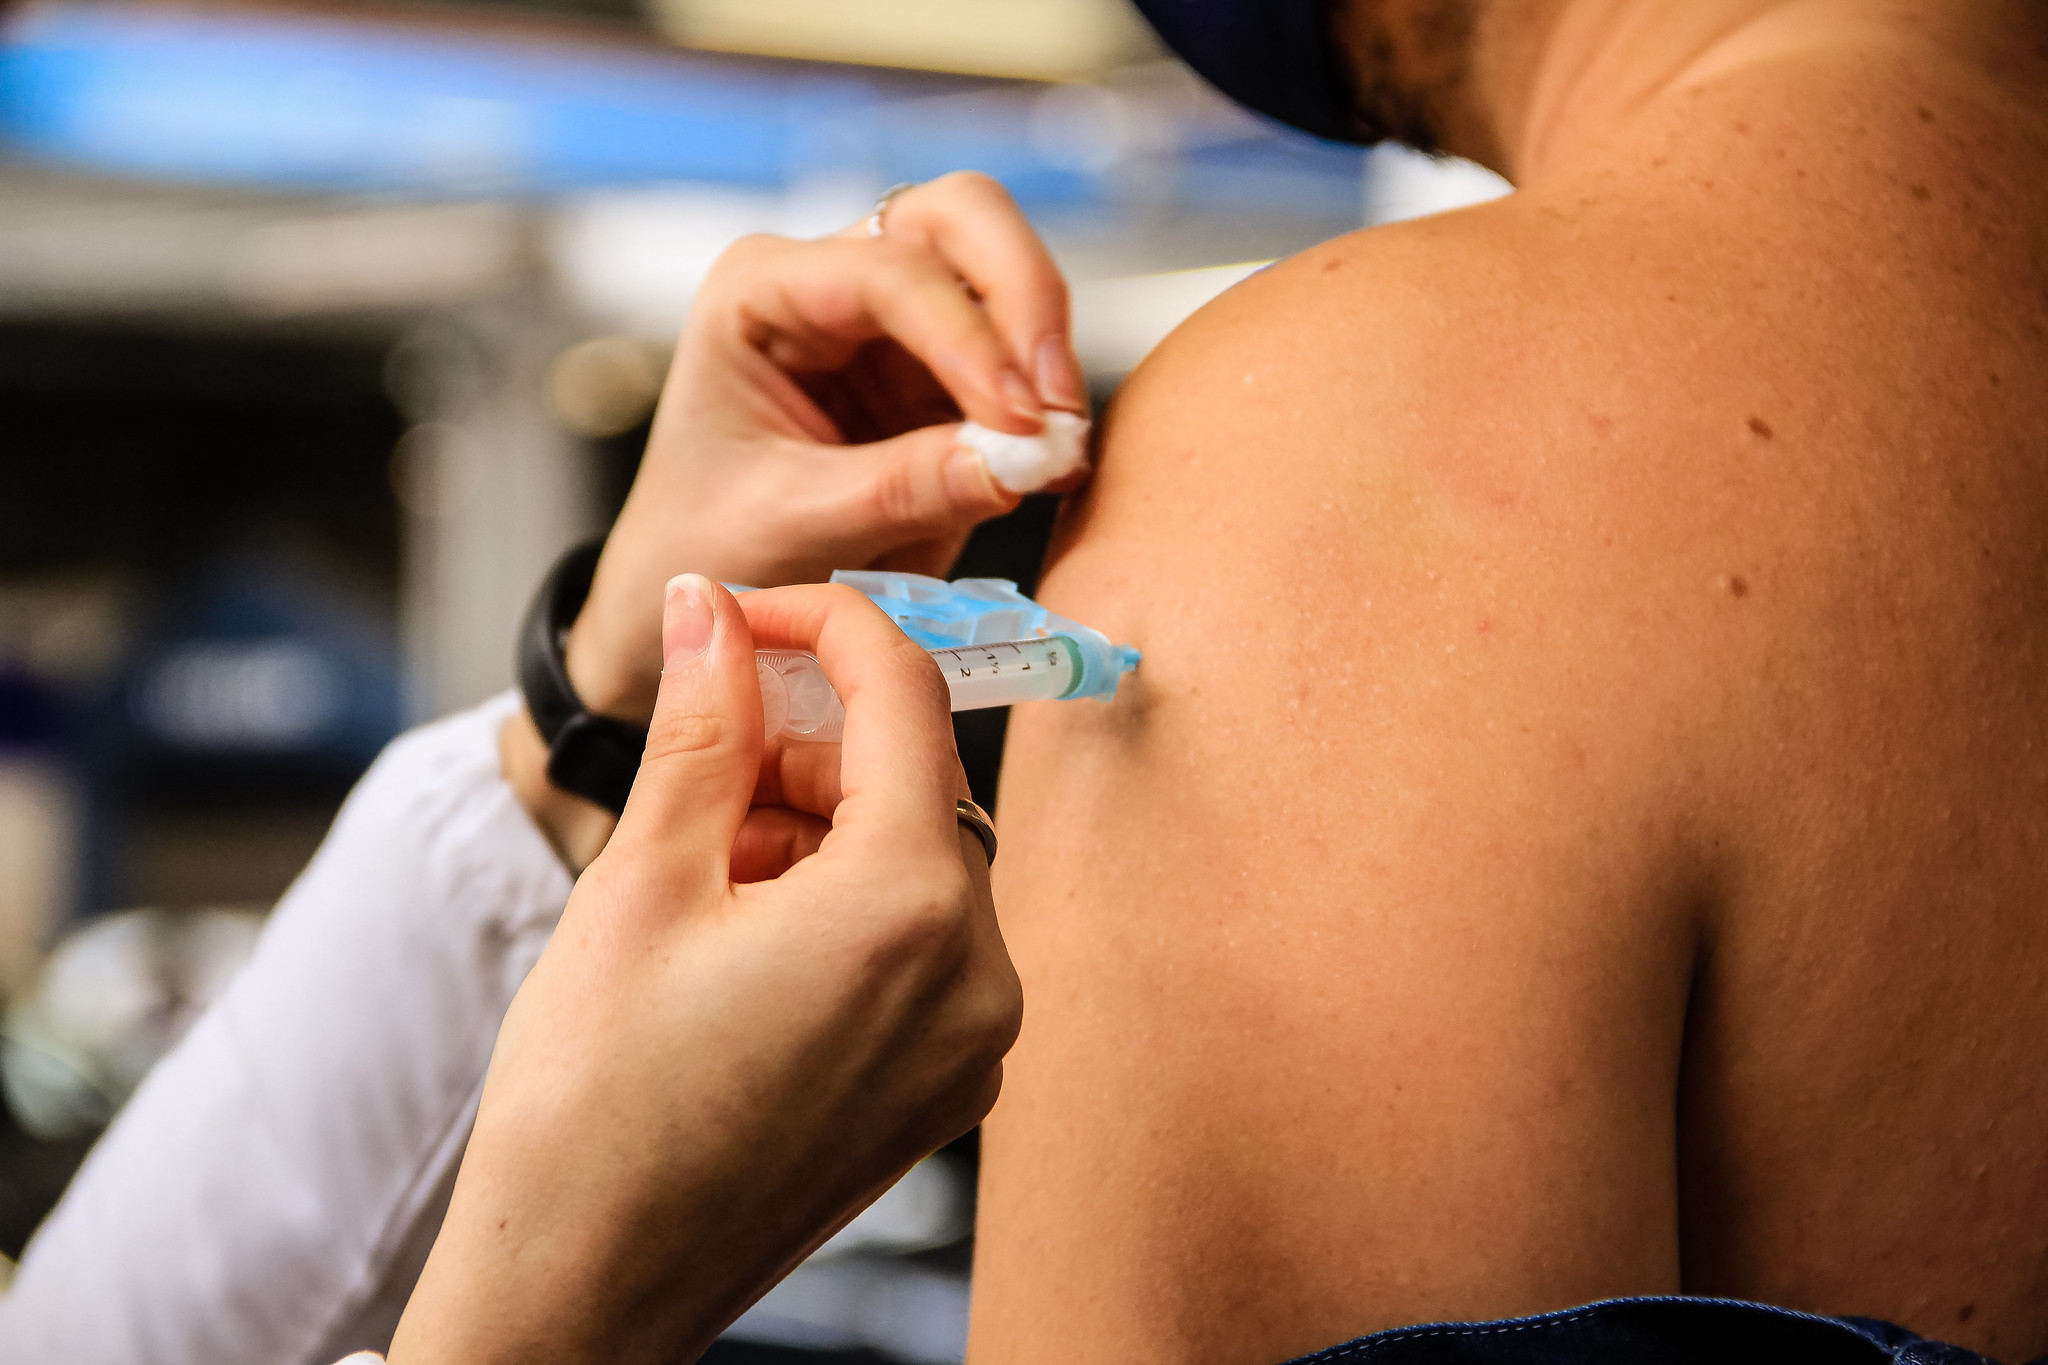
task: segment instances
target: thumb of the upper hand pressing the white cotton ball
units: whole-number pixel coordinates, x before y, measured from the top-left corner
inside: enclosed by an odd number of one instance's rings
[[[821,499],[829,522],[821,536],[860,542],[872,557],[913,540],[965,534],[1014,510],[1018,495],[989,475],[987,458],[963,446],[958,432],[948,422],[846,450],[836,460],[840,483]]]

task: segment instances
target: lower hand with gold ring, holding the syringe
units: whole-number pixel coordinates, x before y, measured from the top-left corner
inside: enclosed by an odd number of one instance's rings
[[[817,653],[844,745],[764,751],[756,639]],[[506,1017],[393,1365],[696,1359],[995,1101],[1022,995],[930,657],[850,589],[696,577],[664,647],[647,759]],[[735,849],[780,876],[741,884]]]

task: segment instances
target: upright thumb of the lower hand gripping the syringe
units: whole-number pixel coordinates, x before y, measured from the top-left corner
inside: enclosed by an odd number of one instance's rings
[[[754,632],[729,591],[698,573],[668,581],[662,690],[618,835],[676,874],[727,880],[762,755]]]

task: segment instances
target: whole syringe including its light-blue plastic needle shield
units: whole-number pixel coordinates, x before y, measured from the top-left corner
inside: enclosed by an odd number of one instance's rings
[[[1139,651],[1067,620],[1018,591],[1010,579],[842,569],[834,583],[858,587],[924,645],[946,677],[952,710],[1016,702],[1098,698],[1108,702]],[[815,655],[756,651],[768,735],[838,741],[846,710]]]

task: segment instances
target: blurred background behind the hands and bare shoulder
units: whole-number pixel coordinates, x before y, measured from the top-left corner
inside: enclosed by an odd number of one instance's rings
[[[750,231],[983,170],[1098,403],[1260,264],[1501,192],[1239,113],[1124,0],[33,4],[0,18],[0,1252],[350,782],[510,686]],[[1030,591],[1051,499],[958,573]],[[961,718],[991,802],[1001,712]],[[956,1361],[973,1140],[713,1359]]]

